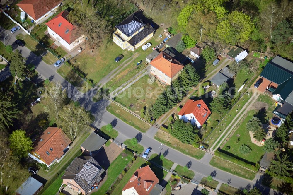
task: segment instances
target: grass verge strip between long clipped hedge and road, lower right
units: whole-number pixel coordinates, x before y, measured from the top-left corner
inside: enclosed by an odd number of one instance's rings
[[[213,156],[209,164],[213,167],[249,180],[253,180],[256,175],[256,172],[245,169],[239,165],[235,165],[234,163],[218,158],[217,156]]]

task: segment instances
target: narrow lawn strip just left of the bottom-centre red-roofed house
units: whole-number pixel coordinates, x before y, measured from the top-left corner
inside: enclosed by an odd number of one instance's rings
[[[129,179],[132,177],[134,172],[139,169],[139,167],[145,163],[145,160],[142,158],[137,157],[134,163],[131,165],[130,169],[125,173],[122,180],[116,186],[115,190],[112,194],[122,194],[123,187],[128,183]]]

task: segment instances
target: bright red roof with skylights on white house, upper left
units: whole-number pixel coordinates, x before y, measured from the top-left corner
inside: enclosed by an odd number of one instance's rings
[[[75,29],[74,25],[67,20],[68,11],[64,10],[57,16],[52,18],[46,25],[51,28],[57,35],[64,39],[67,43],[74,42],[78,36],[74,35],[72,31]]]

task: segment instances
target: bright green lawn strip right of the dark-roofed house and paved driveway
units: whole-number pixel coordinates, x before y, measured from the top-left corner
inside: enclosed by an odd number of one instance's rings
[[[111,184],[115,181],[115,179],[119,176],[121,171],[124,169],[124,167],[129,163],[129,161],[132,159],[133,153],[128,150],[123,150],[121,154],[110,164],[108,168],[108,174],[107,174],[107,180],[105,183],[100,187],[100,189],[94,193],[96,194],[104,194],[108,188],[111,186]]]

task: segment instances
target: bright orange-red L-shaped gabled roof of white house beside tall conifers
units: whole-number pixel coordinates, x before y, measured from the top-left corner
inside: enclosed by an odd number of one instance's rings
[[[200,105],[200,106],[197,106],[197,105]],[[203,125],[205,121],[207,120],[207,117],[209,117],[209,115],[212,112],[209,110],[209,108],[207,107],[207,105],[205,104],[203,100],[194,101],[189,99],[184,104],[184,106],[182,107],[178,115],[183,116],[183,115],[191,114],[191,113],[195,116],[195,118],[200,123],[200,125]]]

